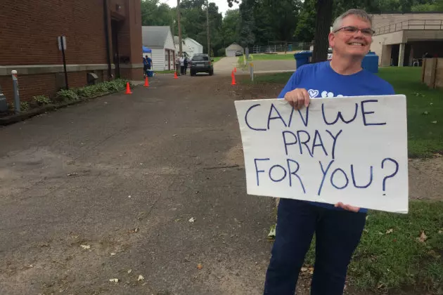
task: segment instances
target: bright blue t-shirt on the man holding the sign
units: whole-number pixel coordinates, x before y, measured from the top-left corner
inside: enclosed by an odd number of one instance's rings
[[[311,98],[333,98],[342,96],[383,96],[394,94],[394,89],[387,81],[361,70],[355,74],[342,75],[335,72],[328,61],[302,65],[290,77],[278,98],[284,98],[288,91],[297,88],[306,89]],[[309,202],[328,209],[337,209],[332,204]],[[360,209],[367,212],[367,209]]]

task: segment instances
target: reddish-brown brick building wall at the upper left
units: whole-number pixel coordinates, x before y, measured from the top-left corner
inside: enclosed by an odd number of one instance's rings
[[[0,86],[9,102],[13,99],[11,69],[15,70],[15,66],[21,66],[18,67],[21,100],[37,95],[53,96],[60,89],[59,76],[63,76],[63,71],[51,72],[49,68],[63,64],[57,41],[62,35],[67,40],[65,58],[70,88],[86,85],[87,72],[108,78],[103,1],[108,1],[111,63],[117,62],[112,46],[111,22],[114,21],[120,27],[117,32],[122,39],[118,46],[120,55],[124,53],[129,57],[129,63],[121,65],[125,68],[120,71],[121,76],[143,77],[139,0],[2,0]],[[35,74],[28,74],[27,67],[35,65],[39,65],[37,70],[32,70]],[[91,70],[75,71],[75,65],[88,65]]]

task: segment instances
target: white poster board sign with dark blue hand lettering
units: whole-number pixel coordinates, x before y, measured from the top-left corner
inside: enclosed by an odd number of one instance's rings
[[[408,212],[405,96],[235,105],[248,194]]]

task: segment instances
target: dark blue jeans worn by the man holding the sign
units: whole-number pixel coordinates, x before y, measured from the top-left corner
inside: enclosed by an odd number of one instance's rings
[[[280,199],[276,241],[264,283],[265,295],[294,295],[300,268],[316,233],[312,295],[342,295],[347,265],[360,242],[366,214]]]

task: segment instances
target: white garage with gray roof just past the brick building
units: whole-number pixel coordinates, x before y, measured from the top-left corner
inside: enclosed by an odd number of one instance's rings
[[[169,26],[141,27],[143,46],[152,51],[153,70],[174,70],[175,46]]]

